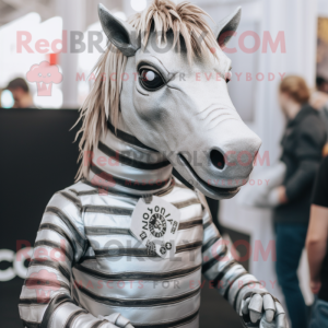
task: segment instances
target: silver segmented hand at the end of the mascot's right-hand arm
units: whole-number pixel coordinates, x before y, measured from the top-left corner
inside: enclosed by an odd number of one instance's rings
[[[242,301],[239,315],[244,327],[289,328],[281,304],[270,294],[248,293]]]

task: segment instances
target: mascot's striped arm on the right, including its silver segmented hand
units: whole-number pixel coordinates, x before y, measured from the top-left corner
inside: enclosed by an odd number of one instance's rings
[[[207,201],[198,194],[203,206],[202,273],[229,301],[242,318],[243,326],[288,328],[285,314],[279,301],[236,262],[213,224]]]

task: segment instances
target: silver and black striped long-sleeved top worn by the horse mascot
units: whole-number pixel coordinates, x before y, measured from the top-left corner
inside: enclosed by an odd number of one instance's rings
[[[89,181],[55,194],[45,210],[20,298],[25,327],[109,328],[115,326],[103,317],[120,313],[136,328],[197,328],[202,273],[236,311],[242,294],[260,288],[229,251],[203,196],[169,171],[167,183],[153,194],[180,212],[176,253],[168,258],[150,253],[129,231],[140,195],[124,192],[129,186],[95,187],[90,180],[99,171],[106,178],[110,167],[93,160]],[[129,177],[147,171],[133,167],[136,161],[125,165]],[[156,169],[167,171],[165,165]],[[112,175],[116,181],[117,175]]]

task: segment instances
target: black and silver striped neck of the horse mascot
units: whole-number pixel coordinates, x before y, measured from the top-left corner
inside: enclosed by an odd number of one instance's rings
[[[161,194],[172,186],[172,165],[157,151],[110,122],[93,151],[87,180],[108,192]]]

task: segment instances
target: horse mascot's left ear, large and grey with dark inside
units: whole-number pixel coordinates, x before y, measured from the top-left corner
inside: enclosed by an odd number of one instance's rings
[[[103,31],[109,42],[125,56],[134,56],[136,51],[140,48],[140,38],[137,35],[136,28],[115,17],[102,3],[98,4],[98,15]]]

